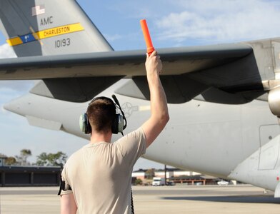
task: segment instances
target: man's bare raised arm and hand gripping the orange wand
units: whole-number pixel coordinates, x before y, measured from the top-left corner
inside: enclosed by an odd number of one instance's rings
[[[148,148],[166,126],[169,121],[169,113],[166,95],[159,78],[162,63],[156,51],[151,56],[146,54],[145,66],[151,95],[151,116],[141,127],[146,135],[146,148]]]

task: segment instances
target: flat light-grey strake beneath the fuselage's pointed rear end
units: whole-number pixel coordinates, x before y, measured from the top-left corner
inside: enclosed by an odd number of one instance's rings
[[[43,118],[36,118],[34,116],[26,116],[29,125],[38,126],[41,128],[46,128],[54,131],[59,131],[61,129],[62,123],[57,121],[49,121]]]

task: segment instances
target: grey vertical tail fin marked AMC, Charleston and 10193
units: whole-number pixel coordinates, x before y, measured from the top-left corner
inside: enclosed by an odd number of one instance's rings
[[[1,0],[0,29],[17,56],[113,51],[74,0]]]

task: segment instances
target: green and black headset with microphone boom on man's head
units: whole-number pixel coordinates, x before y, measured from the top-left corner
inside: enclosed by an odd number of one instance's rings
[[[111,98],[108,98],[106,96],[99,96],[99,97],[94,98],[89,103],[89,105],[91,103],[93,103],[94,101],[101,99],[101,100],[107,100],[107,101],[111,102],[115,106],[115,108],[119,108],[119,110],[121,111],[121,114],[116,113],[116,116],[114,117],[114,120],[112,122],[111,131],[112,131],[112,133],[115,133],[115,134],[120,132],[124,136],[123,131],[126,128],[126,124],[127,124],[126,117],[124,116],[124,111],[122,111],[119,101],[114,94],[112,95],[112,98],[114,99],[115,102],[112,101]],[[91,124],[89,123],[89,116],[87,115],[87,113],[83,113],[80,116],[79,122],[80,122],[80,129],[83,133],[86,133],[86,134],[91,133]]]

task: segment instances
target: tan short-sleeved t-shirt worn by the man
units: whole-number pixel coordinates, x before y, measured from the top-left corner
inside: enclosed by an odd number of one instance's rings
[[[74,193],[77,213],[131,213],[131,173],[146,152],[144,131],[136,131],[114,143],[89,143],[70,156],[61,179]]]

